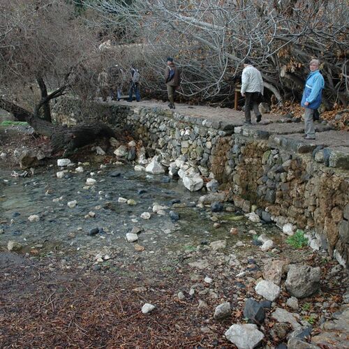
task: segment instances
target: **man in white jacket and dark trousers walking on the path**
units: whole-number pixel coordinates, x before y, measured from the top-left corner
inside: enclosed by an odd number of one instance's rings
[[[251,61],[246,58],[244,70],[242,70],[241,94],[245,97],[245,125],[251,125],[251,109],[255,112],[255,121],[260,122],[262,114],[258,105],[264,91],[262,75],[260,71],[252,66]]]

